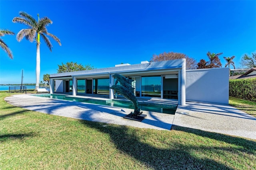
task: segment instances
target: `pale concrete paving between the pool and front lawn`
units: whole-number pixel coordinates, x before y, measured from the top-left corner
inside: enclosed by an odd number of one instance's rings
[[[132,109],[32,95],[13,95],[6,97],[5,101],[28,110],[87,121],[158,130],[170,130],[172,125],[178,125],[256,139],[256,118],[229,105],[186,102],[186,106],[178,106],[175,115],[143,111],[147,117],[142,122],[138,122],[123,118],[133,111]]]

